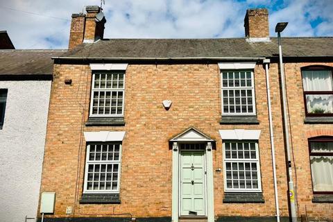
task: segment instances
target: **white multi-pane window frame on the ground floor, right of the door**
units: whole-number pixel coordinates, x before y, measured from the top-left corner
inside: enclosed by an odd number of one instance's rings
[[[255,159],[226,159],[225,158],[225,143],[230,143],[230,142],[234,142],[234,143],[255,143],[255,153],[256,153],[256,157]],[[223,178],[224,178],[224,191],[225,192],[262,192],[262,176],[261,176],[261,170],[260,170],[260,159],[259,159],[259,145],[257,140],[235,140],[235,139],[228,139],[226,141],[223,141]],[[231,147],[230,147],[231,150]],[[231,153],[230,153],[230,157],[231,157]],[[258,188],[257,189],[248,189],[248,188],[228,188],[227,187],[227,169],[226,169],[226,163],[227,162],[255,162],[257,163],[257,182],[258,182]],[[245,169],[244,169],[245,171]],[[251,178],[252,178],[252,174],[251,174]],[[239,179],[238,179],[239,180]],[[245,176],[244,176],[244,180]],[[233,180],[232,180],[233,181]],[[246,182],[246,181],[245,181]]]

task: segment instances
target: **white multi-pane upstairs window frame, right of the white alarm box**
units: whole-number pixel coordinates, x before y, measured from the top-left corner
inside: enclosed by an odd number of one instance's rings
[[[223,72],[228,72],[228,71],[232,71],[232,72],[241,72],[241,71],[245,71],[248,72],[250,71],[251,73],[251,87],[223,87]],[[257,114],[257,110],[256,110],[256,103],[255,103],[255,75],[254,75],[254,71],[253,69],[220,69],[220,82],[221,82],[221,114],[223,116],[255,116]],[[224,112],[223,111],[223,89],[229,90],[229,89],[239,89],[239,90],[248,90],[251,89],[252,91],[252,106],[253,106],[253,112]],[[241,97],[239,97],[241,99]],[[247,99],[248,97],[246,97]],[[229,99],[229,96],[228,96]],[[241,102],[241,101],[240,101]],[[248,105],[246,105],[248,107]],[[230,104],[228,104],[228,107],[230,107]]]

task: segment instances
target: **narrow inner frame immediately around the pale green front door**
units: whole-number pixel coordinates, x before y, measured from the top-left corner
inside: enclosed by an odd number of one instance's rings
[[[203,150],[185,150],[185,151],[182,151],[180,150],[178,153],[179,153],[179,157],[178,157],[178,161],[179,161],[179,164],[178,164],[178,186],[179,186],[179,194],[178,194],[178,205],[179,205],[179,210],[178,210],[178,216],[191,216],[191,215],[182,215],[181,214],[181,207],[182,207],[182,185],[181,185],[181,170],[182,170],[182,153],[186,153],[186,152],[197,152],[197,153],[203,153],[203,172],[204,172],[204,176],[203,176],[203,184],[205,185],[205,214],[204,215],[198,215],[198,216],[207,216],[207,164],[206,164],[206,151],[205,149]],[[194,216],[195,217],[195,216]]]

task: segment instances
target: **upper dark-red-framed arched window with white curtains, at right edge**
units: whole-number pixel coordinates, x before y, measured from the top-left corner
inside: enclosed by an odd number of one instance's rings
[[[307,116],[333,116],[333,67],[302,68],[302,83]]]

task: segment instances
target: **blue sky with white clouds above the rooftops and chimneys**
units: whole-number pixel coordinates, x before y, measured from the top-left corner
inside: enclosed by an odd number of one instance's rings
[[[0,0],[0,31],[16,49],[67,49],[71,14],[101,0]],[[267,8],[270,35],[333,36],[333,0],[105,0],[105,38],[244,37],[248,8]]]

